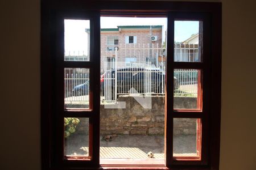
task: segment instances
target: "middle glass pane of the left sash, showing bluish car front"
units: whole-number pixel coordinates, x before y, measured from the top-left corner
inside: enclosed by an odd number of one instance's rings
[[[89,108],[89,69],[65,68],[64,109]]]

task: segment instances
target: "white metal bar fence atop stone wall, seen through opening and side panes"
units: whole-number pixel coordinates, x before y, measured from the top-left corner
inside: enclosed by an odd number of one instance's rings
[[[176,43],[174,60],[200,61],[199,51],[198,45]],[[113,102],[119,95],[130,94],[164,96],[166,49],[162,45],[115,47],[101,52],[101,58],[101,101]],[[89,69],[65,69],[64,80],[65,103],[89,101]],[[175,69],[174,96],[196,97],[197,81],[198,70]]]

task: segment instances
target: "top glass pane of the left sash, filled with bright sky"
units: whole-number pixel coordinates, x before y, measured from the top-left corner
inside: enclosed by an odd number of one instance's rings
[[[90,60],[90,20],[64,20],[64,61]]]

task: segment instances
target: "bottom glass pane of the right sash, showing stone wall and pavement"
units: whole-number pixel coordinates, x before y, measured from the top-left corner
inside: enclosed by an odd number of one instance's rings
[[[174,156],[200,156],[200,118],[174,118]]]

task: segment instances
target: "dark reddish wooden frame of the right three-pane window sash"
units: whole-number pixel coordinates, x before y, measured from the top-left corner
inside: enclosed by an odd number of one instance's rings
[[[201,49],[201,58],[203,58],[203,61],[200,63],[194,63],[194,62],[175,62],[174,61],[174,22],[175,20],[199,20],[203,22],[203,25],[200,26],[199,32],[202,33],[203,42]],[[201,23],[200,22],[200,23]],[[199,98],[197,99],[197,102],[200,105],[201,109],[174,109],[173,104],[170,100],[167,100],[167,110],[171,110],[171,114],[166,114],[166,121],[167,122],[173,122],[174,118],[201,118],[201,156],[198,158],[198,164],[208,164],[208,155],[209,155],[209,87],[210,87],[210,26],[209,26],[209,16],[206,14],[199,14],[199,13],[178,13],[178,12],[170,12],[168,14],[168,32],[167,34],[170,35],[167,37],[167,87],[171,87],[171,89],[174,89],[174,84],[171,83],[171,77],[174,76],[174,69],[199,69],[200,76],[198,82],[201,82],[201,92],[199,95]],[[171,41],[171,45],[170,45]],[[200,81],[201,80],[201,81]],[[200,89],[200,88],[199,88]],[[169,89],[170,90],[170,89]],[[171,99],[174,99],[174,93],[172,91],[168,91],[167,88],[167,94],[168,97]],[[193,114],[194,112],[197,112],[198,114]],[[173,125],[168,125],[170,128],[167,127],[167,138],[171,138],[174,136],[174,131],[170,130],[173,129]],[[170,130],[170,131],[169,131]],[[169,134],[169,135],[168,135]],[[172,139],[169,139],[170,146],[173,146]],[[184,159],[182,157],[175,158],[173,155],[173,150],[170,146],[166,146],[166,153],[170,155],[167,155],[167,158],[170,158],[171,161],[169,162],[170,165],[181,165],[184,164],[184,162],[189,162],[188,159]],[[191,159],[193,160],[193,159]],[[196,159],[194,159],[196,160]],[[197,164],[196,162],[190,162],[190,164]]]

